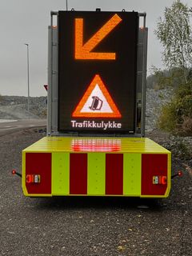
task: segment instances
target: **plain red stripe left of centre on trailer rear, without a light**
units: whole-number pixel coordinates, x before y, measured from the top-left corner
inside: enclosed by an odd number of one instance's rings
[[[87,194],[87,154],[70,154],[70,194]]]

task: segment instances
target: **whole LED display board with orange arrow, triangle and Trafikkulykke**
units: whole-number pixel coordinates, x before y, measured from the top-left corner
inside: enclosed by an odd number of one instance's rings
[[[134,132],[138,13],[59,11],[58,130]]]

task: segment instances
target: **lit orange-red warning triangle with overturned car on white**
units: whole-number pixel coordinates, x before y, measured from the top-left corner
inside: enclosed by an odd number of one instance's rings
[[[121,118],[117,106],[111,98],[102,78],[98,74],[87,88],[81,101],[76,106],[73,118]]]

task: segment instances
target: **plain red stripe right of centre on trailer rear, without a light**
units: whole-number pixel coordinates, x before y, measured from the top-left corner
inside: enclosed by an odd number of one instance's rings
[[[106,194],[123,193],[123,154],[106,154]]]

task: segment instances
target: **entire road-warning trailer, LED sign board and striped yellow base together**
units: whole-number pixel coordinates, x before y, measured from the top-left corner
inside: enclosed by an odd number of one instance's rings
[[[166,198],[171,154],[145,138],[146,13],[52,11],[47,134],[22,151],[30,197]]]

